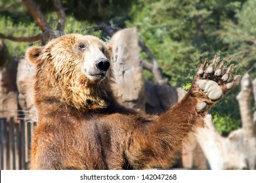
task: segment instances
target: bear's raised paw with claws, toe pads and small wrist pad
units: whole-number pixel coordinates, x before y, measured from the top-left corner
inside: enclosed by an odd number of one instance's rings
[[[239,83],[240,75],[231,78],[234,65],[230,65],[224,71],[224,59],[217,63],[217,57],[213,58],[209,64],[205,60],[199,67],[196,79],[191,91],[196,97],[202,98],[197,105],[197,110],[205,110],[207,107],[224,97],[233,90]],[[198,91],[199,90],[199,91]]]

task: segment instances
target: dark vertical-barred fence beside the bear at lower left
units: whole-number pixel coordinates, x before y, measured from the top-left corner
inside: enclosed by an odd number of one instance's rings
[[[0,169],[28,169],[33,129],[37,122],[0,118]]]

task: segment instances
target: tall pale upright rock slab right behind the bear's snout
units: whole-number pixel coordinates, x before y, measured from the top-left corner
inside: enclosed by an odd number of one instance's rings
[[[144,79],[139,58],[137,29],[123,29],[112,36],[112,61],[119,103],[145,110]]]

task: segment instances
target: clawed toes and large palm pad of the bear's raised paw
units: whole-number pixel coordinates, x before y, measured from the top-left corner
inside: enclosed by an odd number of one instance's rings
[[[217,65],[215,70],[216,63],[217,56],[211,60],[208,66],[207,60],[205,59],[200,65],[196,76],[198,88],[213,102],[219,101],[227,92],[233,90],[240,80],[240,75],[236,75],[230,80],[234,65],[230,65],[228,69],[223,72],[224,59]]]

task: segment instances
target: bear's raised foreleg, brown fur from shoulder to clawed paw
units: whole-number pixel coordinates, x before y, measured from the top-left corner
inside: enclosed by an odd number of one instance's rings
[[[240,76],[229,80],[232,65],[223,73],[223,62],[215,70],[216,61],[214,58],[208,67],[206,61],[200,65],[192,87],[177,105],[152,122],[138,122],[126,155],[135,169],[171,166],[182,150],[182,142],[188,140],[188,133],[203,126],[211,105],[238,84]]]

